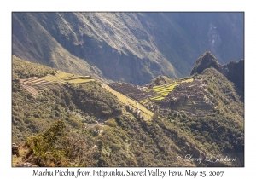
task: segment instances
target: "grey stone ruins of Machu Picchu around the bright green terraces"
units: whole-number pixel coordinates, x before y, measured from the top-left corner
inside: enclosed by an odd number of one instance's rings
[[[135,101],[150,99],[149,97],[157,95],[153,90],[143,91],[142,87],[123,82],[108,84],[113,90],[123,95],[127,95]],[[162,100],[154,101],[154,104],[147,104],[145,107],[154,113],[159,113],[165,117],[172,111],[183,111],[197,116],[207,115],[213,111],[212,101],[206,100],[204,90],[207,89],[207,82],[195,79],[193,82],[181,83],[175,87],[175,90]],[[149,100],[150,101],[150,100]],[[130,112],[139,117],[136,109],[128,107]]]

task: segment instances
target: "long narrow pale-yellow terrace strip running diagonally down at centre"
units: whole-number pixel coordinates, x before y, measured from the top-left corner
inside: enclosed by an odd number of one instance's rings
[[[135,109],[140,109],[142,112],[141,115],[144,117],[145,120],[150,120],[154,116],[154,113],[140,105],[137,101],[134,101],[131,98],[117,92],[116,90],[113,90],[107,84],[102,84],[102,87],[111,92],[113,95],[116,95],[118,100],[125,106],[131,106]]]

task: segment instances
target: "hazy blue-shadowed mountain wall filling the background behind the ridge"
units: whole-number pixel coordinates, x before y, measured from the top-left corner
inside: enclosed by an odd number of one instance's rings
[[[13,54],[98,79],[148,84],[189,75],[211,50],[221,64],[243,58],[243,13],[17,13]]]

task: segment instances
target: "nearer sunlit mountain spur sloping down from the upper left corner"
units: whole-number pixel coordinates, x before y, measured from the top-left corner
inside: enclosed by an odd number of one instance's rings
[[[96,66],[90,66],[64,49],[31,14],[14,13],[12,20],[14,55],[45,66],[57,67],[61,71],[84,75],[91,73],[96,78],[103,78]]]

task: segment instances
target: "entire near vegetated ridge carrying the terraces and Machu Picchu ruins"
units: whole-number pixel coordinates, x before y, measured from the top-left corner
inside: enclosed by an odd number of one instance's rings
[[[15,55],[12,65],[19,165],[244,165],[244,103],[213,67],[148,88],[102,83]],[[201,162],[187,161],[188,154]],[[226,156],[230,161],[218,160]]]

